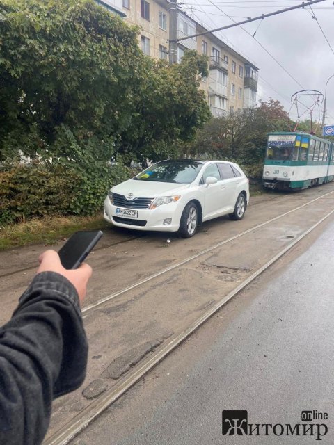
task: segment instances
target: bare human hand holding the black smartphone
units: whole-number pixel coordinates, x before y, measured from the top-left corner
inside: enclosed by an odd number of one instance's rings
[[[88,264],[83,263],[77,269],[67,270],[62,266],[59,255],[55,250],[46,250],[40,255],[38,261],[40,261],[40,267],[37,273],[56,272],[63,275],[77,289],[80,305],[82,305],[86,296],[88,280],[92,275],[92,268]]]

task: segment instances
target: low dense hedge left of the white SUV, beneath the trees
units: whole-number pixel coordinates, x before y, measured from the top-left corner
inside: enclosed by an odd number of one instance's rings
[[[106,163],[7,165],[0,171],[0,225],[33,216],[102,211],[108,189],[134,172]]]

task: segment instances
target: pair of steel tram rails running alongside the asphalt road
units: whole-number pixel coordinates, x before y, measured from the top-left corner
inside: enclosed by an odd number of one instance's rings
[[[255,227],[252,227],[241,234],[237,234],[236,236],[232,236],[228,238],[225,241],[221,241],[221,243],[216,243],[215,245],[210,246],[210,248],[207,248],[205,250],[202,250],[201,252],[198,252],[197,254],[188,257],[184,259],[183,261],[179,261],[177,264],[174,264],[173,266],[170,266],[169,268],[166,268],[164,270],[161,270],[157,273],[154,273],[150,275],[150,277],[145,278],[145,280],[141,280],[140,282],[137,282],[133,284],[132,286],[128,286],[125,289],[122,289],[121,291],[118,291],[116,293],[113,293],[109,296],[106,296],[105,298],[102,298],[98,302],[95,302],[95,304],[90,305],[83,309],[85,318],[93,314],[93,312],[102,309],[104,305],[109,305],[113,302],[116,297],[124,296],[125,293],[134,291],[140,286],[143,286],[145,284],[149,284],[149,282],[152,282],[153,280],[156,280],[157,278],[161,277],[161,275],[167,275],[168,273],[172,272],[173,270],[176,270],[177,268],[182,268],[186,264],[191,263],[191,261],[194,261],[200,257],[204,257],[205,254],[211,254],[214,250],[218,250],[219,248],[224,247],[228,243],[233,243],[234,241],[238,240],[242,236],[252,235],[255,232],[259,231],[260,229],[265,228],[265,226],[270,225],[271,223],[274,223],[280,218],[289,218],[292,216],[294,212],[298,212],[301,209],[304,209],[308,205],[317,202],[318,200],[321,200],[321,198],[324,197],[330,197],[333,192],[325,193],[324,195],[321,195],[314,200],[311,200],[307,203],[304,203],[292,210],[289,210],[285,213],[283,213],[280,216],[277,216],[275,218],[271,218],[270,220],[265,221],[264,223],[261,223],[260,225],[256,225]],[[333,196],[333,195],[332,195]],[[89,403],[84,410],[81,410],[77,416],[75,416],[70,422],[67,422],[65,426],[60,428],[58,432],[55,432],[53,435],[51,435],[45,442],[45,445],[65,445],[70,440],[75,437],[81,430],[84,430],[88,424],[93,421],[103,410],[106,409],[111,403],[116,401],[122,394],[125,393],[130,387],[132,387],[138,380],[145,375],[150,369],[152,369],[153,366],[155,366],[157,363],[161,361],[161,359],[164,359],[170,351],[172,351],[174,348],[176,348],[184,339],[189,337],[189,335],[194,332],[200,325],[205,323],[207,319],[212,316],[218,309],[220,309],[223,305],[225,305],[226,302],[228,302],[233,296],[235,296],[241,289],[244,289],[245,286],[247,286],[250,282],[255,280],[256,277],[258,277],[261,273],[264,272],[267,268],[271,266],[275,261],[277,261],[280,257],[282,257],[288,250],[290,250],[294,245],[299,243],[305,236],[307,236],[312,230],[314,230],[316,227],[318,227],[321,223],[323,223],[328,217],[330,217],[334,213],[334,210],[326,212],[326,214],[317,220],[316,223],[311,225],[311,227],[308,227],[308,229],[303,230],[303,232],[299,236],[294,236],[293,241],[289,241],[287,245],[283,249],[280,249],[279,252],[274,254],[268,261],[266,261],[262,266],[257,268],[255,272],[250,273],[245,280],[243,280],[241,283],[239,283],[237,286],[234,286],[234,289],[226,293],[222,298],[214,302],[214,305],[211,305],[207,310],[202,311],[202,314],[200,316],[197,316],[196,318],[189,323],[189,325],[186,325],[185,327],[182,327],[182,330],[180,332],[176,332],[172,335],[169,339],[164,341],[162,343],[162,346],[159,346],[157,350],[155,350],[151,355],[148,355],[145,359],[143,359],[138,365],[136,365],[129,373],[125,374],[124,377],[117,380],[115,385],[112,385],[106,391],[94,400],[92,403]],[[282,237],[281,237],[282,238]]]

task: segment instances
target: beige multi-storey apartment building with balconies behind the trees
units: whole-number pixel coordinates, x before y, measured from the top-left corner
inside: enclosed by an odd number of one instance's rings
[[[180,63],[193,49],[209,58],[209,76],[202,79],[212,115],[240,112],[256,105],[258,68],[200,23],[167,0],[95,0],[141,27],[138,43],[144,54]],[[197,37],[188,36],[205,33]]]

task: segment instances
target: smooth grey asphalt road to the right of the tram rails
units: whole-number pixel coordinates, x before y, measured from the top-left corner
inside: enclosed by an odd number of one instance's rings
[[[333,444],[333,270],[332,222],[223,307],[72,444]],[[223,410],[247,410],[248,423],[292,428],[303,423],[302,410],[317,410],[328,419],[313,423],[326,424],[328,433],[321,441],[310,430],[222,435]]]

